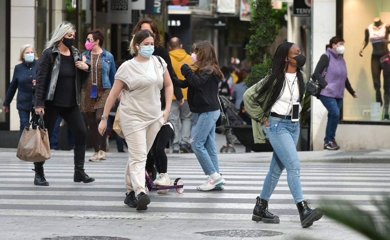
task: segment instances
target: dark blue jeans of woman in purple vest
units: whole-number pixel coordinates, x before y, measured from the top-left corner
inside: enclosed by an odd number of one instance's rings
[[[337,125],[340,120],[340,109],[342,106],[342,98],[330,98],[327,96],[319,95],[319,100],[328,110],[328,123],[326,124],[324,142],[327,144],[329,141],[335,140]]]

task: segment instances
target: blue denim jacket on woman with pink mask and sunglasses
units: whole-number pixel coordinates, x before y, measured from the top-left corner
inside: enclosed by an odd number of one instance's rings
[[[114,84],[115,74],[117,73],[117,69],[115,67],[114,56],[106,49],[103,49],[103,54],[100,55],[101,67],[103,71],[101,73],[101,78],[103,81],[103,88],[112,88]],[[91,61],[91,51],[86,51],[81,54],[81,56],[87,57],[87,63]]]

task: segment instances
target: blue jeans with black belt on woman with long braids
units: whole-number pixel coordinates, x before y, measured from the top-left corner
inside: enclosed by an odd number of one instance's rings
[[[262,126],[262,129],[273,147],[273,155],[260,197],[269,200],[278,184],[280,174],[285,168],[287,170],[287,183],[295,203],[303,201],[300,163],[296,151],[300,133],[299,122],[270,116],[268,129],[265,125]]]

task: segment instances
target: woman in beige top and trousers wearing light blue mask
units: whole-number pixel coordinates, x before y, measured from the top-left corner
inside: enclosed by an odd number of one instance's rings
[[[152,56],[154,35],[148,30],[137,32],[129,51],[135,58],[124,62],[115,75],[115,82],[104,107],[99,133],[107,128],[108,113],[121,93],[119,118],[128,143],[129,160],[126,166],[127,188],[124,203],[147,209],[150,198],[145,194],[145,163],[147,153],[161,126],[167,122],[173,96],[173,86],[162,58]],[[165,90],[165,109],[161,111],[160,90]],[[137,198],[135,197],[137,196]]]

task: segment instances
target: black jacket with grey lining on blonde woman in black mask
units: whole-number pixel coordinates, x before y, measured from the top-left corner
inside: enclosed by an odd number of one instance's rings
[[[74,62],[82,61],[81,54],[76,47],[69,49],[73,55]],[[43,51],[39,65],[37,67],[37,76],[35,82],[35,100],[34,108],[44,107],[45,101],[53,100],[55,86],[57,84],[58,72],[60,71],[60,50],[58,46],[50,47]],[[91,72],[91,66],[88,71],[76,68],[76,102],[80,105],[81,86],[87,81]]]

